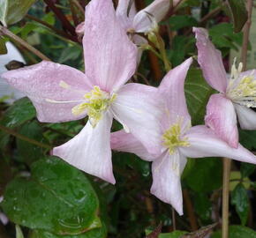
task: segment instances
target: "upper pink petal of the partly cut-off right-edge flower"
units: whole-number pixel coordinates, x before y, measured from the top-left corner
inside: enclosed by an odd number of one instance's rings
[[[222,63],[222,54],[208,38],[207,30],[193,27],[198,48],[198,62],[207,83],[221,93],[227,89],[227,75]]]

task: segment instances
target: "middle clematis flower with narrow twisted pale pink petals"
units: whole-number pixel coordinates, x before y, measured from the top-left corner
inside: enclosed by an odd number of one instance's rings
[[[162,79],[159,92],[165,100],[166,114],[162,117],[162,131],[158,134],[162,151],[155,156],[139,143],[132,134],[119,130],[111,134],[111,148],[121,152],[133,152],[141,159],[153,161],[153,185],[151,193],[163,202],[172,205],[183,214],[183,197],[180,176],[186,158],[222,156],[234,160],[256,163],[256,157],[242,145],[230,147],[219,138],[214,130],[205,125],[191,127],[184,97],[184,78],[192,58],[177,66]]]

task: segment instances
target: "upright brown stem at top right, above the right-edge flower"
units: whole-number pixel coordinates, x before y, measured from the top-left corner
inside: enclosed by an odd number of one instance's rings
[[[250,27],[252,25],[252,4],[253,4],[252,0],[247,0],[248,19],[244,27],[243,46],[242,46],[242,53],[241,53],[241,62],[243,63],[243,71],[246,70],[246,65],[247,65],[247,50],[248,50],[248,44],[249,44]]]

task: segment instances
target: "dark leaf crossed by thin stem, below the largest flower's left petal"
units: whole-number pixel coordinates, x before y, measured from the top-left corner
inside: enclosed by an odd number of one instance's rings
[[[36,121],[24,124],[18,132],[20,135],[26,136],[26,138],[32,138],[41,143],[46,142],[46,139],[44,139],[42,135],[41,126]],[[17,149],[19,159],[26,161],[28,165],[42,158],[45,152],[41,147],[19,138],[17,138]]]

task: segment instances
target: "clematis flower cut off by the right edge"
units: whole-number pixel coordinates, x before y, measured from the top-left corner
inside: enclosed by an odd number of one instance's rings
[[[206,124],[225,140],[237,148],[237,118],[245,130],[256,129],[256,71],[242,72],[243,64],[236,67],[234,61],[230,78],[222,63],[222,55],[208,38],[206,29],[193,28],[196,34],[198,62],[207,83],[219,91],[207,103]]]

